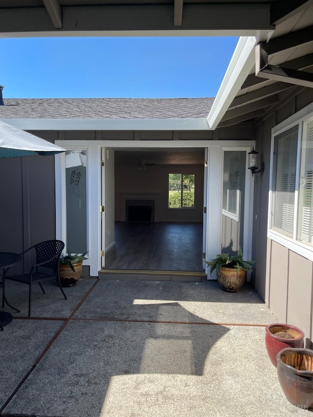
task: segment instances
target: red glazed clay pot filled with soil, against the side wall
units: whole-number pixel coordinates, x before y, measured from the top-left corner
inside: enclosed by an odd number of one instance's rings
[[[293,338],[286,339],[276,336],[279,332],[290,334]],[[276,355],[284,348],[303,348],[304,333],[295,326],[283,323],[269,324],[265,328],[265,346],[271,363],[277,366]]]

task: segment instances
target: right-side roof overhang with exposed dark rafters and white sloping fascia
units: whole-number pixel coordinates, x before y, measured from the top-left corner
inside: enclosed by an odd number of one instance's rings
[[[240,39],[207,117],[211,130],[257,123],[283,99],[313,88],[313,1],[292,3],[290,13],[276,15],[268,39]]]

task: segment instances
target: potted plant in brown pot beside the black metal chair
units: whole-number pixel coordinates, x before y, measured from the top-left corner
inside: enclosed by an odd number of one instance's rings
[[[71,255],[70,252],[67,252],[67,255],[60,257],[59,261],[59,274],[60,282],[63,287],[76,285],[77,281],[82,274],[82,264],[86,258],[87,252],[82,255]]]

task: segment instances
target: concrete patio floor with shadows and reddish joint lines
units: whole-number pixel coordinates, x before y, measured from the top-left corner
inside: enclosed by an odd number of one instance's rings
[[[265,349],[277,322],[250,285],[82,278],[46,294],[7,283],[21,313],[0,332],[0,415],[312,415],[292,406]]]

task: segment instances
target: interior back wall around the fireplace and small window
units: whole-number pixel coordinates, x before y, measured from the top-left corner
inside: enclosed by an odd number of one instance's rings
[[[195,174],[195,207],[168,208],[168,175]],[[152,165],[145,170],[138,170],[135,165],[115,166],[115,220],[122,219],[124,210],[121,199],[123,194],[159,195],[159,221],[201,222],[203,213],[203,179],[202,165]],[[144,199],[144,198],[143,198]],[[122,207],[121,207],[122,206]]]

